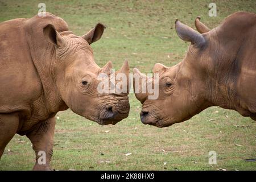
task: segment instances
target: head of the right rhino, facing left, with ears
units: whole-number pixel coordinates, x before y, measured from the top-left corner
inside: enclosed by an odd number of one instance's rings
[[[200,31],[209,31],[196,19],[196,26]],[[141,121],[144,124],[157,127],[167,127],[177,122],[183,122],[193,115],[212,105],[207,100],[208,78],[207,68],[209,64],[209,40],[207,34],[200,34],[179,20],[175,22],[177,35],[185,42],[191,42],[185,58],[173,67],[166,67],[157,63],[153,73],[158,73],[159,96],[155,100],[148,99],[149,94],[135,92],[135,96],[141,101]],[[134,69],[134,77],[148,78]],[[135,85],[135,79],[134,79]],[[143,84],[139,84],[142,90]],[[135,89],[135,88],[134,88]]]

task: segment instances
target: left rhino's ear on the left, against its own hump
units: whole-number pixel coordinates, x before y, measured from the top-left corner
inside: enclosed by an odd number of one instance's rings
[[[57,46],[61,47],[64,44],[64,39],[62,36],[55,30],[55,27],[52,24],[48,24],[46,27],[43,28],[44,37],[46,40]]]

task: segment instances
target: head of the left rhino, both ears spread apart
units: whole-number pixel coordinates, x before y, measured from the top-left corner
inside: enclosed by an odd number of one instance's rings
[[[104,73],[110,76],[112,63],[108,62],[103,68],[98,67],[94,62],[90,44],[101,38],[104,29],[104,25],[97,24],[87,34],[76,36],[71,31],[59,33],[52,24],[48,24],[43,33],[56,52],[57,64],[53,63],[53,69],[61,100],[82,117],[100,125],[115,125],[128,116],[130,105],[127,92],[98,92],[98,84],[102,82],[99,75]],[[129,74],[127,61],[118,73]],[[108,78],[105,78],[105,81],[108,81],[109,85],[115,84]]]

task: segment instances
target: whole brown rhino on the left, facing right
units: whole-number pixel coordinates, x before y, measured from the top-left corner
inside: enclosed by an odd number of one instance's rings
[[[77,36],[50,13],[0,24],[0,157],[16,133],[26,135],[36,154],[33,169],[49,170],[58,111],[69,108],[100,125],[128,116],[128,93],[97,92],[98,75],[112,68],[98,67],[90,47],[104,29],[98,23]],[[129,74],[127,61],[118,73]]]

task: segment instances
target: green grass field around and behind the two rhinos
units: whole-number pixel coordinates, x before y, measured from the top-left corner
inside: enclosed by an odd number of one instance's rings
[[[0,0],[0,22],[30,18],[41,1]],[[44,1],[46,10],[63,18],[83,35],[96,23],[106,25],[102,39],[92,44],[96,63],[112,60],[121,67],[151,72],[155,63],[181,61],[188,43],[175,32],[174,21],[194,26],[197,15],[213,28],[236,11],[256,12],[256,2],[214,1],[217,17],[208,16],[211,1]],[[189,121],[159,129],[143,125],[141,104],[130,94],[129,117],[115,126],[100,126],[72,111],[57,114],[52,167],[58,170],[256,170],[256,123],[232,110],[210,107]],[[217,152],[217,165],[208,163]],[[125,154],[132,153],[129,156]],[[34,151],[26,137],[15,135],[0,161],[0,170],[30,170]],[[165,165],[164,165],[165,164]]]

